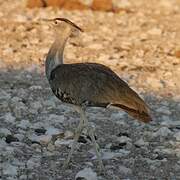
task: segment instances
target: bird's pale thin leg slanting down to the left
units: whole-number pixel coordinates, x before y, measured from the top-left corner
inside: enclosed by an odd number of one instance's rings
[[[67,159],[65,160],[65,162],[63,164],[63,169],[66,169],[68,164],[69,164],[69,161],[70,161],[71,156],[72,156],[72,154],[74,152],[74,149],[75,149],[75,147],[77,145],[79,136],[81,135],[81,132],[82,132],[83,128],[84,128],[84,120],[81,118],[80,123],[79,123],[79,125],[78,125],[78,127],[76,129],[76,132],[75,132],[74,141],[73,141],[73,144],[71,146],[71,150],[69,151],[68,157],[67,157]]]

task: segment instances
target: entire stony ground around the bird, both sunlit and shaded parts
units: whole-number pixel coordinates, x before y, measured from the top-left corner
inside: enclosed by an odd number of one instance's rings
[[[123,1],[122,1],[123,2]],[[180,179],[180,3],[128,1],[118,14],[26,9],[0,0],[0,178],[2,180]],[[127,114],[90,108],[106,174],[86,132],[62,170],[79,116],[52,94],[44,57],[53,40],[40,18],[63,16],[85,33],[67,45],[66,62],[99,62],[136,89],[152,109],[142,124]]]

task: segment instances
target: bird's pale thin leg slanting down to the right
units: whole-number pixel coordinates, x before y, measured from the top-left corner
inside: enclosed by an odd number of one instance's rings
[[[88,133],[89,133],[89,136],[92,140],[92,143],[93,143],[93,146],[95,149],[95,153],[96,153],[97,159],[99,161],[100,169],[105,171],[105,168],[104,168],[104,165],[103,165],[100,153],[99,153],[100,148],[99,148],[98,144],[96,143],[96,140],[94,137],[94,130],[93,130],[92,126],[88,123],[88,119],[86,118],[85,111],[83,109],[80,112],[80,115],[81,115],[81,118],[84,120],[85,127],[88,128]]]

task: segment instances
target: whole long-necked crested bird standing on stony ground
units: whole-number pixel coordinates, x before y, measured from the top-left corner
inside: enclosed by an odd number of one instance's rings
[[[84,32],[69,19],[46,19],[55,35],[45,60],[45,73],[53,94],[63,103],[72,106],[80,114],[71,149],[64,161],[67,168],[82,130],[86,128],[91,138],[101,170],[105,170],[100,148],[96,143],[94,128],[88,122],[88,107],[116,107],[131,117],[148,123],[152,120],[149,106],[109,67],[99,63],[64,63],[64,48],[70,37]]]

